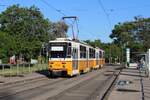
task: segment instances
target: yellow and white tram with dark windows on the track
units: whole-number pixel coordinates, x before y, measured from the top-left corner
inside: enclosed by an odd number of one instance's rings
[[[48,63],[51,75],[78,75],[101,68],[105,64],[104,51],[84,42],[57,38],[49,42]]]

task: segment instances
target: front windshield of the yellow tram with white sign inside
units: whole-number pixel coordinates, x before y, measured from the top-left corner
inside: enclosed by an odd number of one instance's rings
[[[66,58],[67,43],[50,43],[50,58]]]

